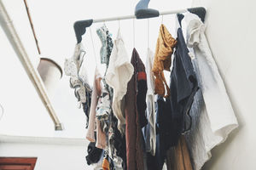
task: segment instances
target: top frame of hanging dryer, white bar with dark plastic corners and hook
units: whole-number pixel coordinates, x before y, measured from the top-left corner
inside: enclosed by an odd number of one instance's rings
[[[159,17],[160,15],[166,15],[166,14],[185,13],[187,11],[193,14],[197,14],[203,22],[205,20],[206,8],[203,8],[203,7],[184,8],[184,9],[159,12],[158,10],[148,8],[148,3],[149,3],[149,0],[141,0],[139,3],[137,3],[135,14],[132,14],[132,15],[102,18],[102,19],[95,19],[95,20],[90,19],[90,20],[76,21],[73,24],[73,28],[76,34],[77,42],[79,43],[82,41],[82,36],[86,31],[86,27],[90,27],[92,23],[99,23],[99,22],[113,21],[113,20],[148,19],[148,18]]]

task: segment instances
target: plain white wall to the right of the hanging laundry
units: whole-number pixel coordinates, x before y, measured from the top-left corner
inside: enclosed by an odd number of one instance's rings
[[[207,7],[207,39],[240,127],[212,150],[206,170],[256,168],[256,2],[194,0]]]

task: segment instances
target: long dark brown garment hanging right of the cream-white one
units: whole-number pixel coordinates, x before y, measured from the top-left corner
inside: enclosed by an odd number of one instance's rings
[[[126,157],[128,170],[143,170],[143,148],[142,148],[142,130],[137,111],[137,73],[145,72],[143,61],[133,48],[131,56],[131,65],[134,67],[134,74],[127,85],[125,94],[125,139],[126,139]]]

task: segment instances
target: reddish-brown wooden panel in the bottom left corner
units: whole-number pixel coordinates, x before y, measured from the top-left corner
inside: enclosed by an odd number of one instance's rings
[[[37,157],[0,157],[0,170],[33,170]]]

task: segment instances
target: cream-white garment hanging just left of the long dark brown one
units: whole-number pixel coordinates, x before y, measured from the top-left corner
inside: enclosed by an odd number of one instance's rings
[[[108,85],[113,88],[113,114],[118,119],[118,128],[125,133],[125,117],[123,97],[127,91],[127,83],[131,80],[134,68],[131,65],[125,49],[124,41],[118,31],[118,36],[113,42],[113,49],[109,59],[108,70],[105,76]]]

